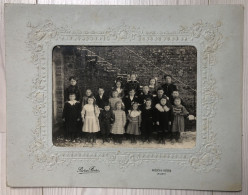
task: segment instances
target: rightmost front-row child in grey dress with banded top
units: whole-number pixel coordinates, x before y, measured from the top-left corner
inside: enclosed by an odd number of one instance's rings
[[[189,114],[186,108],[181,104],[180,98],[175,98],[172,106],[173,123],[172,123],[172,143],[182,142],[181,132],[184,132],[184,117]]]

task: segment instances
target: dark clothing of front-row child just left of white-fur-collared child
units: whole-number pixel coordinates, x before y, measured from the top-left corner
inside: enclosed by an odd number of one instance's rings
[[[145,106],[141,109],[141,135],[146,140],[150,139],[153,131],[154,109],[146,109]]]

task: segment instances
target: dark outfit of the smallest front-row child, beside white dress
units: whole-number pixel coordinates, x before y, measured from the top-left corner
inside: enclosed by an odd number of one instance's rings
[[[100,130],[102,135],[109,135],[111,131],[111,124],[115,121],[115,115],[112,110],[106,111],[102,110],[99,115],[100,120]]]

